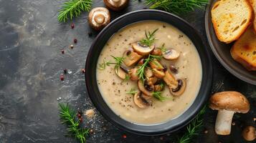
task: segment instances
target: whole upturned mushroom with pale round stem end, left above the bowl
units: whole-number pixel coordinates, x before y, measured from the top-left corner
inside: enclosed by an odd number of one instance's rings
[[[90,26],[95,30],[101,30],[110,23],[110,12],[104,7],[96,7],[88,16]]]

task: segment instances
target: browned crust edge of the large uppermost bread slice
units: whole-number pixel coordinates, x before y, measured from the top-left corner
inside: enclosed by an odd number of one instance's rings
[[[214,6],[212,6],[212,8],[214,8],[215,6],[217,6],[217,4],[220,4],[222,2],[222,0],[219,0],[217,1]],[[219,33],[218,29],[217,29],[217,22],[214,21],[214,19],[212,18],[212,24],[214,26],[214,31],[215,31],[215,34],[217,35],[217,38],[219,39],[219,41],[223,41],[227,44],[231,43],[232,41],[236,41],[237,39],[240,38],[240,36],[242,36],[242,34],[246,31],[246,29],[248,28],[248,26],[250,26],[252,24],[252,21],[254,20],[254,12],[253,12],[253,9],[252,9],[252,5],[250,4],[250,1],[247,1],[245,0],[245,3],[247,4],[249,10],[250,10],[250,19],[247,21],[247,25],[243,27],[243,29],[241,30],[241,32],[239,34],[237,34],[237,36],[234,36],[233,39],[230,39],[229,41],[225,40],[225,39],[222,39],[222,35]],[[213,11],[213,9],[212,9]]]

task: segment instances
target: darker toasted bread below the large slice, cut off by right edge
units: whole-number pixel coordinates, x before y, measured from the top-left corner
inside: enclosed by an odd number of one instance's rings
[[[234,43],[230,53],[246,69],[256,71],[256,34],[252,26]]]

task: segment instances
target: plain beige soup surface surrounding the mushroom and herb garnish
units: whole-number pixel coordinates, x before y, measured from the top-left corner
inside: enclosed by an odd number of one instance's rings
[[[176,79],[186,79],[186,89],[181,96],[174,96],[165,85],[161,92],[164,100],[152,98],[151,106],[141,109],[134,103],[133,94],[138,92],[138,81],[120,79],[115,74],[113,56],[122,57],[131,44],[145,38],[145,31],[156,31],[153,44],[180,53],[179,59],[167,61],[161,59],[161,64],[168,67],[174,65],[178,70],[173,74]],[[128,122],[137,124],[158,124],[179,117],[194,102],[202,82],[202,64],[198,52],[191,40],[179,29],[161,21],[141,21],[126,26],[115,33],[105,44],[98,58],[100,68],[97,72],[97,82],[103,99],[110,109]]]

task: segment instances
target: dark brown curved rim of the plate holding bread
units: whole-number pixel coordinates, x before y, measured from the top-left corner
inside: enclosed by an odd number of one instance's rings
[[[209,30],[209,19],[210,19],[210,9],[211,9],[211,6],[212,6],[212,3],[213,3],[213,0],[210,0],[209,1],[209,4],[207,4],[207,9],[205,11],[205,17],[204,17],[204,26],[205,26],[205,31],[207,33],[207,41],[214,53],[214,56],[218,59],[218,61],[222,64],[222,66],[224,66],[225,69],[227,69],[227,71],[229,71],[231,74],[234,75],[234,77],[237,77],[238,79],[241,79],[242,81],[244,82],[247,82],[249,84],[254,84],[256,85],[256,81],[255,80],[252,80],[250,79],[249,77],[245,77],[243,76],[242,74],[240,74],[238,71],[232,69],[231,66],[229,66],[229,64],[227,64],[223,59],[222,57],[218,54],[218,51],[217,49],[215,49],[215,46],[212,42],[212,38],[211,38],[211,34],[210,34],[210,30]],[[244,69],[246,70],[246,69]]]

